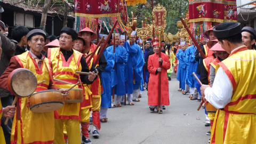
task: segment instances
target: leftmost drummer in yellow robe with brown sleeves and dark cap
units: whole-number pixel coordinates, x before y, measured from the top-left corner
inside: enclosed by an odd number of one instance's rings
[[[51,71],[52,66],[49,59],[45,58],[41,51],[45,44],[46,35],[43,30],[34,29],[27,34],[30,51],[16,55],[11,58],[9,67],[0,77],[0,85],[7,88],[7,79],[10,73],[17,68],[26,68],[35,74],[37,83],[45,80],[44,83],[37,85],[35,92],[43,90],[59,89],[52,85]],[[29,87],[28,87],[29,89]],[[59,89],[65,92],[65,89]],[[65,94],[66,95],[66,94]],[[53,143],[54,141],[54,112],[33,113],[28,107],[28,98],[18,98],[17,113],[14,116],[11,142],[12,143]],[[38,137],[40,135],[40,137]]]

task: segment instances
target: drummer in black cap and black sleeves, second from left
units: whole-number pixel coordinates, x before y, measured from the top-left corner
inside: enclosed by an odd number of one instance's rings
[[[83,54],[72,49],[78,34],[74,29],[68,27],[63,27],[60,33],[60,47],[48,49],[45,52],[45,56],[52,61],[53,77],[72,84],[76,84],[78,81],[84,84],[92,84],[94,78],[97,78],[94,72],[90,72],[90,75],[76,74],[76,71],[89,73],[89,68]],[[60,82],[56,82],[56,85],[61,88],[72,86]],[[78,86],[75,86],[75,88],[78,88]],[[84,88],[82,87],[82,89]],[[80,103],[65,103],[58,110],[59,119],[55,119],[54,143],[65,143],[63,139],[63,124],[67,128],[68,143],[81,143],[79,130],[80,109]]]

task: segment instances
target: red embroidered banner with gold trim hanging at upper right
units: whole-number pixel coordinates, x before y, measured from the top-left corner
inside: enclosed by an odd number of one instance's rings
[[[189,0],[189,22],[237,22],[236,0]]]

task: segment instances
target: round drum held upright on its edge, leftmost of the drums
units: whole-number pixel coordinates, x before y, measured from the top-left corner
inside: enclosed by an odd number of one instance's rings
[[[26,68],[17,68],[7,78],[9,91],[17,97],[28,97],[36,90],[37,79],[32,71]]]

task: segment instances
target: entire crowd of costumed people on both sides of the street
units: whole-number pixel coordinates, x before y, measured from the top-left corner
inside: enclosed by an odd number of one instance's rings
[[[9,38],[2,21],[0,29],[0,143],[92,143],[90,124],[93,124],[93,137],[100,137],[101,122],[108,121],[108,108],[122,107],[126,100],[129,105],[135,105],[140,101],[141,91],[148,91],[149,111],[154,113],[156,109],[162,114],[165,106],[170,105],[168,81],[173,72],[181,94],[189,92],[190,100],[204,101],[205,126],[210,126],[206,133],[211,135],[209,142],[225,143],[239,137],[241,142],[250,143],[255,139],[245,138],[245,135],[252,136],[250,131],[256,131],[252,103],[255,92],[251,81],[255,79],[252,71],[256,68],[253,28],[242,29],[235,22],[221,23],[205,31],[206,41],[199,43],[196,37],[201,50],[193,41],[165,44],[159,43],[157,37],[148,38],[142,46],[136,31],[132,32],[131,41],[116,33],[106,42],[108,35],[98,36],[90,28],[75,31],[63,27],[56,37],[41,29],[29,31],[18,26]],[[98,49],[93,42],[103,36]],[[90,59],[87,56],[92,52]],[[83,102],[63,103],[62,108],[47,113],[32,112],[26,97],[19,97],[16,106],[12,106],[15,94],[8,89],[7,80],[17,68],[32,71],[37,82],[45,80],[37,85],[35,93],[59,90],[66,97],[69,92],[65,88],[79,82],[74,88],[83,90]],[[161,95],[158,95],[159,88]],[[207,110],[207,105],[216,110]],[[229,117],[230,114],[235,116]],[[5,125],[6,118],[10,120]],[[239,118],[244,122],[236,121]],[[243,126],[238,126],[241,123]],[[233,129],[245,135],[238,136]]]

